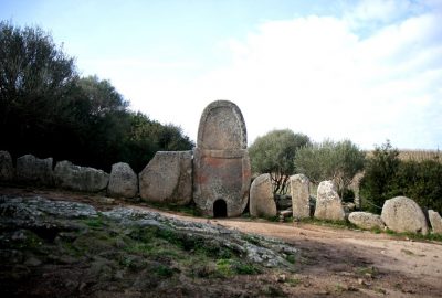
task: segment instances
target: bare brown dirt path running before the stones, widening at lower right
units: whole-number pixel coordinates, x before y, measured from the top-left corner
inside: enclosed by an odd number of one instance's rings
[[[185,221],[210,222],[245,233],[282,238],[299,249],[297,268],[295,273],[281,273],[283,276],[269,278],[290,279],[286,292],[293,297],[442,297],[441,243],[304,223],[191,217],[143,204],[66,192],[0,188],[1,193],[44,194],[54,200],[90,203],[98,210],[116,205],[148,209]]]

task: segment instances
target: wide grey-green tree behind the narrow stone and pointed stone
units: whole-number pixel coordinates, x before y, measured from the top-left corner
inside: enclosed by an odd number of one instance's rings
[[[350,140],[325,140],[301,148],[295,158],[296,171],[314,183],[334,180],[344,195],[356,173],[364,169],[365,153]]]

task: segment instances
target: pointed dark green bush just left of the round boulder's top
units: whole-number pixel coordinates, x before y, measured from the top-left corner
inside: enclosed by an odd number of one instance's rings
[[[389,140],[376,147],[372,156],[367,159],[366,171],[360,181],[360,193],[365,199],[362,204],[371,212],[379,213],[383,202],[391,199],[391,185],[399,170],[399,150]]]

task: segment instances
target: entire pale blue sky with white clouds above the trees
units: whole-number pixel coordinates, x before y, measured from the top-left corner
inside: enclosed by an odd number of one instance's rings
[[[442,0],[0,0],[0,20],[50,32],[82,76],[192,140],[228,99],[249,143],[290,128],[442,147]]]

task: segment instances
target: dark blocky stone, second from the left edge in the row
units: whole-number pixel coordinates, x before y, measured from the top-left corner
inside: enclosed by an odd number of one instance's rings
[[[17,159],[17,180],[24,183],[52,185],[52,158],[39,159],[25,155]]]

